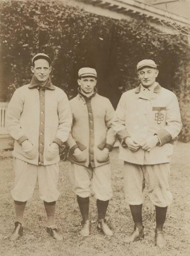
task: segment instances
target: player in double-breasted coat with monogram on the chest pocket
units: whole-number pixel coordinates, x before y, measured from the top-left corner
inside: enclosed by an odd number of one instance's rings
[[[146,182],[156,210],[155,245],[163,247],[166,245],[163,224],[172,201],[169,162],[173,139],[182,123],[176,95],[156,82],[155,62],[143,59],[137,64],[137,74],[140,85],[122,94],[113,121],[121,142],[119,157],[124,161],[125,198],[135,223],[125,242],[144,237],[142,190]]]

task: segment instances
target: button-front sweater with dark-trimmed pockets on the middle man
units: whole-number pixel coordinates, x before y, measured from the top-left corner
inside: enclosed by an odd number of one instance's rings
[[[87,98],[79,88],[79,94],[70,100],[73,125],[67,140],[70,146],[68,160],[78,165],[97,167],[109,163],[109,152],[116,136],[112,129],[114,108],[108,98],[95,93]],[[76,147],[82,150],[81,155],[74,155]]]

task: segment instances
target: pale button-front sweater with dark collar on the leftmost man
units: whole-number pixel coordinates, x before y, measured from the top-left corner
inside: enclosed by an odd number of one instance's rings
[[[67,95],[50,78],[44,87],[33,77],[30,84],[18,88],[9,102],[6,121],[15,139],[14,157],[34,165],[59,162],[59,149],[49,145],[67,141],[72,116]],[[29,152],[21,146],[24,139],[33,144]]]

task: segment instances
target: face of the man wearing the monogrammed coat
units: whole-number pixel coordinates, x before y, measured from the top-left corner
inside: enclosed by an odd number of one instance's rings
[[[156,77],[158,76],[158,70],[151,67],[144,67],[141,70],[138,70],[137,74],[141,84],[148,88],[155,83]]]

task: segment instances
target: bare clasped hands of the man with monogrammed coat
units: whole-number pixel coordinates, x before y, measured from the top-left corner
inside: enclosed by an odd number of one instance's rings
[[[139,144],[136,143],[132,138],[127,137],[125,139],[125,144],[127,145],[128,149],[133,152],[136,152],[140,147],[144,150],[150,151],[153,147],[157,145],[159,142],[158,136],[153,135],[146,139],[145,141],[140,142]]]

